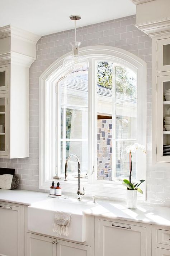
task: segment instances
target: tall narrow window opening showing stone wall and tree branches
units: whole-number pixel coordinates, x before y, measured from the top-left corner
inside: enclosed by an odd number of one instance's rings
[[[112,180],[112,68],[111,62],[97,65],[98,180]]]

